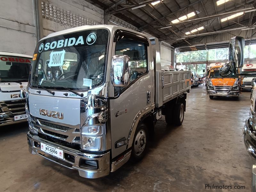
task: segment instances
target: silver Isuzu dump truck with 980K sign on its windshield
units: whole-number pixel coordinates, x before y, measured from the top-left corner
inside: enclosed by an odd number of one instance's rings
[[[36,46],[27,90],[29,151],[85,178],[146,153],[163,116],[181,125],[190,71],[162,71],[156,38],[126,28],[81,26]]]

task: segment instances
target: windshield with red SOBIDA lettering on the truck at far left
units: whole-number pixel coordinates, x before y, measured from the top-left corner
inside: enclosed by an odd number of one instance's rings
[[[0,55],[0,81],[28,82],[32,59]]]

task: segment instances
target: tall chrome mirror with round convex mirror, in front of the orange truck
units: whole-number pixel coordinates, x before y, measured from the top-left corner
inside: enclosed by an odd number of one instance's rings
[[[220,76],[227,77],[232,72],[236,74],[236,68],[244,65],[244,37],[235,36],[229,41],[228,62],[220,68]]]

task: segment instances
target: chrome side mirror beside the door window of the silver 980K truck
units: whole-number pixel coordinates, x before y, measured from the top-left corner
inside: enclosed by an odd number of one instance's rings
[[[131,67],[130,57],[114,55],[111,66],[111,82],[115,87],[127,87],[130,84]]]

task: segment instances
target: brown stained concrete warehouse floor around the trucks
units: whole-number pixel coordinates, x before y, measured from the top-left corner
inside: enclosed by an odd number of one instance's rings
[[[188,94],[183,125],[156,124],[155,141],[138,164],[127,163],[99,179],[79,177],[28,152],[26,124],[0,129],[0,191],[221,191],[205,184],[245,186],[251,191],[252,165],[242,140],[250,92],[239,100],[210,100],[205,86]]]

